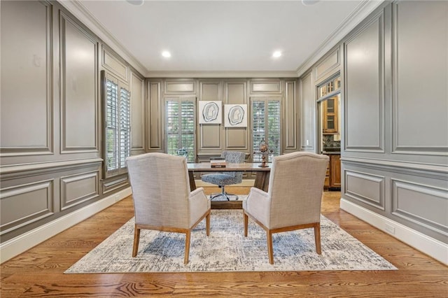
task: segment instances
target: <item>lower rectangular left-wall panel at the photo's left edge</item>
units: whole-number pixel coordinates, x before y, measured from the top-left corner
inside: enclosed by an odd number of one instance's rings
[[[53,179],[50,179],[1,189],[0,234],[52,215],[53,182]]]

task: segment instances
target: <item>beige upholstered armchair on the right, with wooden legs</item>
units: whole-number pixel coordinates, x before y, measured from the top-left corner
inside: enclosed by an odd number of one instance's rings
[[[248,217],[265,229],[269,263],[274,264],[272,234],[314,228],[316,251],[321,254],[321,198],[328,156],[293,152],[274,157],[267,192],[252,187],[244,209],[244,236]]]

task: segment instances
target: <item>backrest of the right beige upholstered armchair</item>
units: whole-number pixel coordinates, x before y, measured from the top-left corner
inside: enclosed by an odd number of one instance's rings
[[[272,227],[320,222],[328,160],[311,152],[274,157],[268,187]]]

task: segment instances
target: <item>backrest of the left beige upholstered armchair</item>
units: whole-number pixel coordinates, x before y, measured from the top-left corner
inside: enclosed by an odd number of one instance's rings
[[[126,159],[135,222],[188,228],[190,183],[185,157],[146,153]]]

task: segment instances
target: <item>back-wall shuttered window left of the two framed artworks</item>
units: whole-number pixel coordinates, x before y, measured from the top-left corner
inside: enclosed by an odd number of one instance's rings
[[[174,97],[165,101],[167,153],[187,152],[187,161],[195,162],[195,97]],[[183,151],[185,152],[185,151]]]

